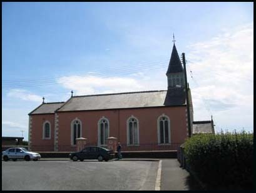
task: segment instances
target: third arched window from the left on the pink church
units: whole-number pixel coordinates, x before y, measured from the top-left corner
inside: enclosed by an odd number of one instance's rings
[[[106,146],[108,137],[110,137],[110,121],[102,117],[98,122],[98,144],[99,146]]]

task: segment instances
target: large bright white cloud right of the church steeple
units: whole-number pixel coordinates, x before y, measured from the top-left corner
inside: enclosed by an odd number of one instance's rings
[[[237,126],[252,127],[253,24],[225,29],[217,37],[189,45],[188,49],[195,119],[207,117],[205,110],[209,109],[202,108],[206,102],[220,125],[231,126],[236,120]]]

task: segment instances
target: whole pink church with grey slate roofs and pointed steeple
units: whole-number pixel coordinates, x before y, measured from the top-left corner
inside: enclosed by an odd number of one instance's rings
[[[167,67],[167,66],[166,66]],[[193,126],[187,117],[185,72],[175,44],[166,72],[168,87],[160,91],[72,96],[66,102],[44,102],[29,113],[29,149],[76,150],[76,139],[106,147],[116,137],[122,151],[177,150]]]

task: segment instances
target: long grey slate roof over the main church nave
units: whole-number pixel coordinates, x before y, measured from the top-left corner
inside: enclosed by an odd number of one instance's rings
[[[180,106],[185,104],[185,100],[177,100],[176,96],[170,96],[171,98],[166,100],[166,92],[167,91],[143,91],[74,96],[71,97],[58,112]]]

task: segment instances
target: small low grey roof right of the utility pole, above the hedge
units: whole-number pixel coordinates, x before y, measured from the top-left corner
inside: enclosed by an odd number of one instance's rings
[[[212,121],[193,121],[192,134],[214,134]]]

